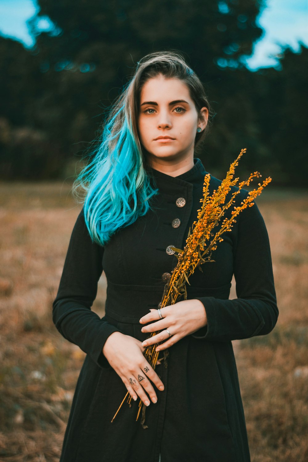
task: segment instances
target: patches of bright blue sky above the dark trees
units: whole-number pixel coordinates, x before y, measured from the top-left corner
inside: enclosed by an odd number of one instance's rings
[[[220,4],[223,10],[224,2]],[[26,20],[37,9],[36,0],[0,0],[0,35],[18,40],[26,48],[33,46]],[[267,0],[257,22],[265,32],[254,44],[252,56],[244,59],[251,70],[278,66],[275,55],[279,55],[279,45],[289,45],[295,52],[299,41],[308,46],[308,0]],[[41,30],[52,29],[48,18],[40,19],[38,26]]]

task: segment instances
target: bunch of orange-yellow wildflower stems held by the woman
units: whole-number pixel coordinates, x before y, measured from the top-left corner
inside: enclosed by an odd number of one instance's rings
[[[229,193],[231,186],[235,186],[239,180],[239,178],[235,178],[233,180],[233,176],[235,173],[235,167],[238,165],[238,160],[245,152],[246,148],[242,149],[236,160],[230,164],[230,168],[226,177],[218,186],[217,190],[214,189],[212,195],[209,195],[210,174],[205,175],[203,197],[200,199],[202,205],[198,210],[197,221],[193,222],[192,229],[189,228],[184,249],[182,250],[172,247],[172,249],[177,252],[177,255],[175,256],[177,257],[178,262],[172,271],[168,283],[164,287],[160,308],[175,304],[177,301],[179,301],[179,298],[183,297],[184,300],[187,299],[186,283],[189,284],[189,277],[193,274],[194,270],[198,267],[199,270],[202,271],[201,265],[203,263],[215,261],[211,259],[211,254],[214,250],[217,249],[217,244],[223,241],[223,238],[221,237],[222,234],[226,231],[231,231],[232,223],[236,222],[237,215],[246,207],[252,207],[254,205],[254,199],[260,195],[262,190],[268,185],[268,183],[272,181],[272,178],[269,176],[266,178],[266,180],[263,180],[262,184],[258,183],[259,188],[249,191],[247,198],[241,202],[241,205],[238,207],[234,206],[234,210],[231,211],[231,217],[224,218],[219,231],[217,231],[215,234],[213,233],[213,229],[219,224],[225,211],[231,207],[232,204],[234,204],[235,196],[240,193],[242,187],[244,185],[249,186],[249,183],[253,181],[254,177],[259,178],[262,176],[258,171],[251,173],[246,181],[239,183],[238,189],[232,193],[231,199],[225,203],[226,196]],[[159,332],[161,332],[161,330],[157,332],[151,332],[148,338],[158,334]],[[167,357],[169,355],[168,349],[163,350],[163,358],[158,359],[159,352],[155,351],[157,345],[158,343],[149,345],[147,348],[145,348],[144,351],[145,358],[151,364],[153,369],[155,369],[157,360],[162,360],[164,366],[167,367]],[[128,398],[127,395],[129,395]],[[121,402],[119,409],[115,413],[115,416],[119,412],[126,398],[129,406],[131,407],[132,396],[129,394],[129,392],[127,392],[123,401]],[[139,410],[136,420],[139,418],[141,407],[141,425],[143,428],[147,428],[147,426],[144,425],[146,406],[141,399],[139,401]],[[115,416],[111,422],[115,419]]]

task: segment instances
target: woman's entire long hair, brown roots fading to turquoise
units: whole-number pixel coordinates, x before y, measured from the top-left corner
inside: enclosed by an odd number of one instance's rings
[[[202,107],[211,114],[204,87],[180,52],[151,53],[137,63],[133,77],[105,118],[95,150],[86,155],[93,157],[72,187],[73,195],[79,203],[84,203],[85,223],[92,242],[102,246],[118,229],[145,215],[152,208],[151,197],[158,194],[158,188],[151,185],[151,171],[140,144],[137,120],[142,86],[159,74],[180,79],[187,85],[200,120]],[[208,125],[196,133],[194,152],[201,146]]]

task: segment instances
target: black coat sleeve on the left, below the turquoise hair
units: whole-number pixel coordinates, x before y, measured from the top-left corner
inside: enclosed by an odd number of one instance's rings
[[[103,251],[92,243],[82,209],[72,230],[53,302],[53,322],[66,340],[78,345],[97,365],[111,367],[102,350],[109,335],[119,329],[91,310],[103,272]]]

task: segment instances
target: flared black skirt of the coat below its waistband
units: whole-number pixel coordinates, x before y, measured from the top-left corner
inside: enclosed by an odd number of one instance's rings
[[[121,332],[144,340],[137,324],[104,317]],[[165,389],[136,421],[114,369],[86,356],[79,375],[60,462],[249,462],[245,418],[231,342],[181,339],[169,348],[167,367],[156,366]],[[163,356],[163,355],[162,355]]]

